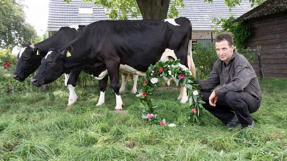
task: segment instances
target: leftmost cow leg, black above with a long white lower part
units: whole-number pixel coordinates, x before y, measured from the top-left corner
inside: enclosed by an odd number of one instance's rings
[[[75,92],[75,87],[77,85],[77,79],[79,78],[81,71],[71,71],[70,72],[70,78],[67,80],[67,86],[69,89],[69,100],[68,100],[68,106],[72,105],[77,101],[77,94]],[[66,78],[66,77],[65,77]]]

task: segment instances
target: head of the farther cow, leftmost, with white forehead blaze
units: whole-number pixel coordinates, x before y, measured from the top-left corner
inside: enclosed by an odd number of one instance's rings
[[[17,56],[18,62],[13,74],[13,78],[24,81],[41,64],[41,56],[38,47],[31,45],[31,42],[22,44],[22,48]]]

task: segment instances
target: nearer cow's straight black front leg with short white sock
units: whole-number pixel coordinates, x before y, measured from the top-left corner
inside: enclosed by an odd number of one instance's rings
[[[114,110],[121,110],[123,109],[121,107],[123,105],[123,101],[121,100],[121,95],[119,93],[120,58],[109,59],[109,61],[106,62],[106,66],[110,77],[110,87],[116,94],[116,107]]]

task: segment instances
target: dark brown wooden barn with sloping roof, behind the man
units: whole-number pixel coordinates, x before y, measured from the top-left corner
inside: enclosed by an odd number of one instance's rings
[[[234,21],[251,25],[246,47],[261,46],[264,76],[287,78],[287,0],[267,0]],[[259,76],[257,57],[252,66]]]

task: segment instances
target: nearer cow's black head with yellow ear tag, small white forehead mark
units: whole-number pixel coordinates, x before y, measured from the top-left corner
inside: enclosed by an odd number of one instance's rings
[[[65,60],[70,56],[72,46],[68,46],[62,52],[50,48],[49,52],[41,60],[41,65],[36,75],[31,79],[31,83],[35,86],[52,83],[65,72]]]

